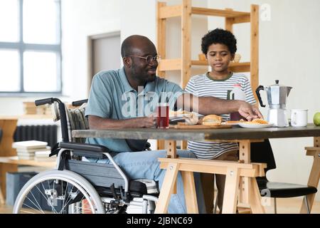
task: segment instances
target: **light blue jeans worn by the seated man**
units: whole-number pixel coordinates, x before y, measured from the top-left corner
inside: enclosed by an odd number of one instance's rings
[[[188,150],[177,150],[179,157],[195,157]],[[114,154],[113,154],[114,155]],[[113,156],[113,159],[122,170],[128,175],[129,179],[149,179],[159,181],[159,187],[164,182],[166,170],[161,170],[158,158],[166,157],[166,150],[149,150],[142,152],[119,152]],[[92,161],[92,160],[91,160]],[[110,163],[109,160],[95,160],[99,163]],[[194,173],[196,185],[196,194],[198,199],[199,213],[206,213],[201,188],[199,173]],[[161,189],[161,188],[160,188]],[[183,193],[183,182],[181,172],[178,172],[177,194],[171,195],[168,212],[171,214],[186,214],[186,201]]]

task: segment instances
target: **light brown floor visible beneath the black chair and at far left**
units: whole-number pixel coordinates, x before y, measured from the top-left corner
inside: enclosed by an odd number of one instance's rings
[[[268,204],[269,202],[267,202]],[[277,199],[277,213],[278,214],[298,214],[302,204],[302,198]],[[270,206],[265,207],[267,214],[274,213],[273,200]],[[0,214],[11,214],[12,207],[7,205],[0,205]],[[241,211],[240,211],[241,213]],[[320,214],[320,202],[315,202],[311,214]]]

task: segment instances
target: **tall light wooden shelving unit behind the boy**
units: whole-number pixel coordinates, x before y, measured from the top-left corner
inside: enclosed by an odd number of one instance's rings
[[[166,6],[165,2],[157,3],[157,50],[161,56],[158,75],[166,76],[166,71],[181,71],[181,87],[185,88],[191,78],[192,66],[208,66],[206,61],[191,59],[191,16],[219,16],[225,18],[225,29],[233,32],[233,25],[250,23],[250,62],[232,63],[230,71],[250,72],[252,90],[259,86],[259,6],[251,5],[250,12],[233,11],[233,9],[207,9],[191,5],[191,0],[182,0],[182,4]],[[166,19],[181,17],[181,58],[166,58]],[[256,97],[255,97],[256,98]],[[256,98],[257,99],[257,98]],[[185,147],[185,146],[183,146]],[[163,149],[163,142],[158,142]]]

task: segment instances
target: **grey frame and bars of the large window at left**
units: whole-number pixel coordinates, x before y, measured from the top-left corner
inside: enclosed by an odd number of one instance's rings
[[[56,34],[57,41],[56,44],[42,44],[42,43],[24,43],[23,41],[23,1],[18,1],[18,41],[16,42],[1,42],[0,50],[14,50],[18,51],[19,61],[20,61],[20,90],[18,91],[1,91],[0,96],[39,96],[39,95],[62,95],[63,91],[63,81],[62,81],[62,26],[61,26],[61,0],[55,0],[56,2]],[[25,51],[48,51],[55,53],[57,55],[57,81],[59,90],[58,91],[30,91],[27,92],[23,89],[23,53]]]

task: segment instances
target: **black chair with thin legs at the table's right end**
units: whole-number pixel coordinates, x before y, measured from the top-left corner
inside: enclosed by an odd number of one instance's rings
[[[276,168],[276,163],[269,140],[251,143],[251,162],[267,163],[267,168],[265,168],[266,175],[268,170],[274,170]],[[316,193],[316,187],[282,182],[270,182],[267,180],[267,177],[257,177],[257,185],[262,197],[274,198],[275,214],[277,214],[277,198],[301,196],[304,196],[304,203],[306,204],[308,214],[310,214],[309,203],[306,199],[306,195]]]

